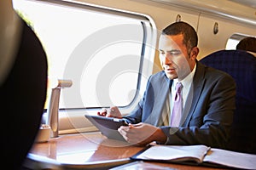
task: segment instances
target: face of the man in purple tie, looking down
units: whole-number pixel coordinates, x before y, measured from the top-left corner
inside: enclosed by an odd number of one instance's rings
[[[194,48],[193,48],[194,50]],[[160,36],[159,51],[160,62],[170,79],[183,80],[194,68],[195,58],[193,50],[188,54],[187,47],[183,44],[183,35]],[[197,50],[197,48],[196,48]],[[193,55],[192,55],[193,52]]]

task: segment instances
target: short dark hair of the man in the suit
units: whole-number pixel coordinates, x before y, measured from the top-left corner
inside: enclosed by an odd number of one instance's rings
[[[187,47],[189,54],[192,48],[197,47],[198,42],[197,33],[192,26],[186,22],[179,21],[172,23],[162,31],[162,35],[167,36],[176,36],[179,34],[183,35],[183,44]]]

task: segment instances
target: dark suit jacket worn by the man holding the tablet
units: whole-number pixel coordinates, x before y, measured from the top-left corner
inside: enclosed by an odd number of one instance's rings
[[[164,71],[148,79],[143,99],[125,116],[127,122],[147,122],[166,133],[166,144],[206,144],[226,148],[235,111],[236,82],[227,73],[197,62],[180,127],[161,127],[162,110],[172,80]]]

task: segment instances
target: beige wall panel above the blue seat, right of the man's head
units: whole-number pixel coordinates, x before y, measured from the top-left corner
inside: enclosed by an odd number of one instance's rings
[[[218,23],[218,33],[213,34],[213,26]],[[214,51],[224,49],[228,39],[235,33],[256,36],[256,27],[234,20],[212,16],[210,14],[201,14],[198,26],[198,35],[200,37],[199,47],[201,52],[198,59],[211,54]]]

